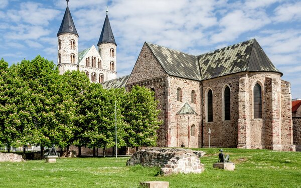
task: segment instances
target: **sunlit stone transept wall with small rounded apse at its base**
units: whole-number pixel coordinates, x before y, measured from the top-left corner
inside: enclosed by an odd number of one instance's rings
[[[186,147],[199,147],[199,142],[201,138],[200,134],[200,122],[201,122],[201,94],[200,94],[200,82],[194,80],[188,80],[184,78],[178,78],[170,76],[168,79],[168,117],[167,124],[168,127],[168,147],[180,147],[182,142],[184,142]],[[177,89],[181,88],[182,100],[177,100]],[[196,102],[192,103],[191,92],[195,91]],[[191,114],[181,114],[177,115],[177,112],[188,103],[197,113],[197,115]],[[195,136],[190,134],[191,126],[195,125],[196,133]],[[186,138],[184,139],[184,135]],[[181,137],[179,139],[179,136]]]

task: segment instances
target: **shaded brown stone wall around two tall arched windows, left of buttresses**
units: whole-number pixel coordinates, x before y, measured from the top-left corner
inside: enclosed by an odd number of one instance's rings
[[[238,134],[238,92],[239,79],[245,74],[238,73],[229,76],[218,77],[202,81],[203,105],[203,136],[204,146],[209,146],[208,130],[211,129],[210,145],[213,147],[236,147]],[[223,121],[223,88],[230,88],[230,120]],[[206,100],[207,92],[211,89],[213,93],[213,121],[206,122]]]

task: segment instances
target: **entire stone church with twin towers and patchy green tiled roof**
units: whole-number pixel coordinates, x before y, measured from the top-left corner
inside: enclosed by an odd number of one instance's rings
[[[155,92],[163,120],[158,146],[295,150],[290,83],[255,39],[201,55],[145,42],[131,74],[116,78],[107,15],[98,49],[77,52],[68,7],[57,36],[61,74],[80,70],[107,89],[139,85]]]

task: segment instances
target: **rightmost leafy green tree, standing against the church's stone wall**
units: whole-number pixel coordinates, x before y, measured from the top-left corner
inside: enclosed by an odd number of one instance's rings
[[[155,146],[157,141],[157,129],[162,123],[158,119],[160,110],[157,109],[158,101],[154,98],[154,92],[145,87],[134,86],[127,93],[124,100],[122,114],[129,124],[126,130],[126,144],[128,146]]]

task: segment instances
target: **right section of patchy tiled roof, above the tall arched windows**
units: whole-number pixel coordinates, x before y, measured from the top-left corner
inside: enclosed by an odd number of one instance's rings
[[[198,56],[202,80],[243,71],[278,72],[255,39]]]

